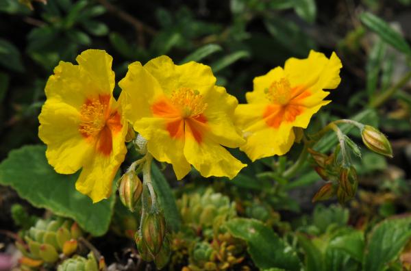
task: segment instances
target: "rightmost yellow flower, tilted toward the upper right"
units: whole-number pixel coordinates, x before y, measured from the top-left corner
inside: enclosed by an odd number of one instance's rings
[[[251,160],[284,155],[295,141],[293,127],[307,128],[310,118],[323,105],[329,92],[340,83],[340,59],[332,53],[310,51],[308,58],[290,58],[284,68],[273,68],[254,78],[253,92],[247,92],[247,104],[238,105],[236,125],[247,143],[241,150]]]

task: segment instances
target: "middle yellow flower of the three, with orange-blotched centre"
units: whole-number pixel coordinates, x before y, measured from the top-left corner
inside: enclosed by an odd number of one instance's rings
[[[229,178],[245,166],[223,147],[245,143],[233,123],[238,101],[215,82],[209,66],[179,66],[163,55],[130,64],[119,83],[127,120],[155,159],[173,164],[177,179],[190,164],[204,177]]]

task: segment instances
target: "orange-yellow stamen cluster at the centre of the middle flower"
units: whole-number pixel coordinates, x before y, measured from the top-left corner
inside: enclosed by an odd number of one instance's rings
[[[174,90],[171,93],[171,103],[181,110],[183,118],[195,118],[208,107],[208,104],[203,102],[203,95],[191,88]]]

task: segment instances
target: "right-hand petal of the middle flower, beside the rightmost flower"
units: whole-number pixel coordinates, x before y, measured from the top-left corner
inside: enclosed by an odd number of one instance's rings
[[[234,126],[234,111],[238,105],[236,97],[227,94],[225,88],[216,86],[205,97],[205,102],[208,104],[204,112],[210,128],[208,136],[214,142],[229,148],[245,144],[240,131]]]

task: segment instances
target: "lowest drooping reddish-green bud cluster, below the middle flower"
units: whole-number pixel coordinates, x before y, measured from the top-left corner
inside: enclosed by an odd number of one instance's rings
[[[170,240],[166,234],[166,222],[160,212],[146,214],[135,241],[144,261],[154,261],[158,269],[163,268],[170,258]]]

